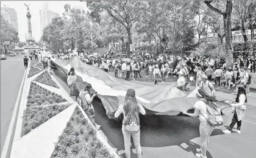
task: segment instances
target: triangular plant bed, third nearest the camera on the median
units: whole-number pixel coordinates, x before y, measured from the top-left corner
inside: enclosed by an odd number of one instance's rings
[[[27,107],[50,105],[67,101],[62,96],[52,93],[38,84],[31,82],[29,95],[27,96]]]

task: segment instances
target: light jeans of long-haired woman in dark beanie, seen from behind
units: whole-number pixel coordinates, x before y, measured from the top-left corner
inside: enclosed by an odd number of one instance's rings
[[[124,136],[124,150],[126,151],[126,158],[130,158],[130,136],[132,136],[134,146],[136,148],[137,157],[141,158],[141,146],[140,146],[140,131],[135,134],[129,134],[122,128]]]

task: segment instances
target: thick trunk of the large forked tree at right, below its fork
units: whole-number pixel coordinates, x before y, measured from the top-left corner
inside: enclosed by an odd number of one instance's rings
[[[231,10],[232,10],[232,4],[231,4],[230,12],[226,13],[226,15],[223,16],[224,20],[224,30],[226,34],[226,59],[227,59],[227,67],[232,67],[233,65],[233,46],[232,46],[232,31],[231,31]]]

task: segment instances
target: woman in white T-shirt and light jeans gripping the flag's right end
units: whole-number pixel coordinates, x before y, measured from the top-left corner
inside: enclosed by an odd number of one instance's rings
[[[210,142],[210,135],[212,134],[213,130],[216,128],[215,126],[210,125],[210,123],[207,122],[208,115],[210,114],[207,105],[211,102],[217,101],[215,99],[215,96],[209,96],[204,89],[199,89],[197,91],[197,98],[199,98],[198,101],[194,104],[194,114],[187,113],[187,111],[183,112],[183,114],[188,115],[190,117],[197,117],[199,116],[200,126],[199,126],[199,132],[201,137],[201,148],[196,149],[196,157],[200,158],[207,158],[206,151],[207,147]]]

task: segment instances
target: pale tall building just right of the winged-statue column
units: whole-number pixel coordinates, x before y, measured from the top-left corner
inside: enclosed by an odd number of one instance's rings
[[[42,9],[39,10],[40,15],[40,26],[41,33],[43,34],[44,27],[48,26],[48,24],[52,21],[53,18],[60,16],[59,13],[52,12],[49,10],[48,2],[44,2],[42,5]]]

